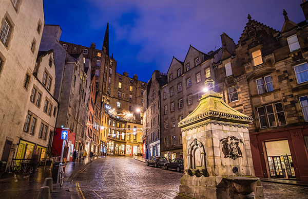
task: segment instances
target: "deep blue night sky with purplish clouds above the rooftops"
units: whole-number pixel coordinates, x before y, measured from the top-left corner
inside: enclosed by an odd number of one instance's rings
[[[62,28],[61,41],[102,49],[109,22],[109,53],[117,73],[147,82],[154,70],[167,73],[172,57],[184,61],[189,45],[207,53],[221,47],[225,32],[235,43],[248,13],[281,30],[284,16],[304,21],[302,0],[44,0],[45,24]]]

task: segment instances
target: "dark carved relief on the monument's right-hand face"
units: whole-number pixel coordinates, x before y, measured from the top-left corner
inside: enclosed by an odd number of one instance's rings
[[[237,159],[243,157],[241,147],[243,146],[243,141],[236,138],[235,136],[228,136],[220,140],[222,144],[222,152],[225,155],[224,158]]]

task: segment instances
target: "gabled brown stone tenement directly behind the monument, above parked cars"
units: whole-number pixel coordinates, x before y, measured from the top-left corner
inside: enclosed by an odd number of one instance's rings
[[[169,160],[183,157],[178,123],[199,104],[204,93],[203,83],[207,78],[213,79],[213,63],[220,60],[222,51],[219,48],[206,54],[190,46],[184,62],[175,57],[171,61],[167,84],[160,89],[161,155]]]

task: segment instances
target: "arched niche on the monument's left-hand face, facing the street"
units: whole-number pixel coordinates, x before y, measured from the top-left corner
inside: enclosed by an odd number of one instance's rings
[[[196,175],[196,176],[208,176],[206,165],[205,165],[205,149],[203,144],[194,139],[188,146],[187,151],[187,165],[188,169],[186,172],[189,175]]]

